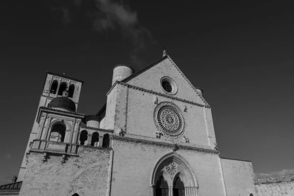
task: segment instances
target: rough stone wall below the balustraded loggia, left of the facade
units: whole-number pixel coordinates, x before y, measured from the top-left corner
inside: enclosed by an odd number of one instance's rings
[[[30,152],[20,196],[106,196],[111,150],[80,146],[78,156]]]

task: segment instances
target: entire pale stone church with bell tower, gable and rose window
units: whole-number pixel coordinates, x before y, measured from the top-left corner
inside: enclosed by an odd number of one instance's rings
[[[210,105],[171,57],[120,64],[97,114],[83,81],[47,73],[20,196],[255,196],[250,161],[221,158]]]

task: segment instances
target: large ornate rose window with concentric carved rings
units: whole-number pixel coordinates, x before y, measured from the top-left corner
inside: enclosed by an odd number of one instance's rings
[[[170,103],[162,102],[154,111],[154,122],[160,132],[168,138],[179,138],[185,132],[185,119],[180,109]]]

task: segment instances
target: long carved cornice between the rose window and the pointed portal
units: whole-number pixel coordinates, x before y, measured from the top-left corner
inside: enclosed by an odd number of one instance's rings
[[[121,142],[128,142],[133,144],[142,144],[142,145],[149,145],[149,146],[155,146],[155,147],[167,147],[172,148],[176,146],[177,149],[180,150],[189,150],[189,151],[197,151],[202,153],[209,153],[209,154],[219,154],[220,152],[217,150],[212,149],[205,149],[205,148],[199,148],[199,147],[189,147],[179,144],[169,144],[169,143],[163,143],[163,142],[155,142],[155,141],[148,141],[148,140],[142,140],[142,139],[135,139],[135,138],[128,138],[128,137],[122,137],[113,135],[112,140],[117,140]]]

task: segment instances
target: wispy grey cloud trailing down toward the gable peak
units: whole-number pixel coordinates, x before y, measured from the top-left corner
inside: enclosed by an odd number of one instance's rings
[[[103,15],[96,14],[94,29],[102,32],[118,28],[133,47],[130,52],[131,62],[141,66],[140,53],[146,49],[147,44],[155,44],[155,41],[151,32],[139,25],[137,12],[132,11],[128,5],[113,0],[96,0],[96,6]]]

